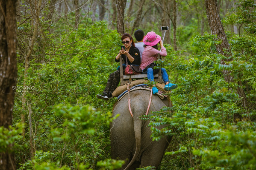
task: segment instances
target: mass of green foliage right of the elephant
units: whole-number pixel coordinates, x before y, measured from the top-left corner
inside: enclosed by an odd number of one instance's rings
[[[241,8],[252,1],[243,2],[239,2]],[[233,58],[226,64],[220,64],[226,57],[215,48],[221,42],[207,32],[190,39],[189,57],[187,51],[167,49],[165,62],[171,64],[165,68],[172,75],[171,82],[178,84],[171,94],[173,107],[147,117],[153,140],[172,136],[162,170],[256,169],[256,41],[253,30],[248,32],[240,36],[226,32]],[[224,80],[224,71],[230,72],[232,82]],[[239,89],[244,91],[247,107]],[[159,125],[165,127],[159,129]]]

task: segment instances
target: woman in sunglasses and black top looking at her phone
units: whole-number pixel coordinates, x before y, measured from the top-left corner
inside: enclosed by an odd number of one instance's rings
[[[125,48],[121,49],[118,55],[115,57],[115,62],[120,61],[120,57],[124,59],[124,63],[128,63],[129,65],[140,65],[141,57],[140,51],[135,47],[132,36],[130,34],[123,34],[121,37],[122,43]],[[127,56],[127,57],[126,57]],[[127,61],[126,61],[127,58]],[[123,64],[123,68],[125,69],[126,64]],[[108,100],[112,98],[112,92],[118,87],[120,81],[120,68],[117,71],[113,72],[109,75],[109,79],[102,94],[97,94],[97,98]]]

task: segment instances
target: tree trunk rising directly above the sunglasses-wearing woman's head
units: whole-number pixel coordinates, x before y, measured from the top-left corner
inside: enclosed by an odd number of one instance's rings
[[[117,31],[119,34],[124,34],[124,8],[126,6],[126,0],[115,0],[117,6]]]

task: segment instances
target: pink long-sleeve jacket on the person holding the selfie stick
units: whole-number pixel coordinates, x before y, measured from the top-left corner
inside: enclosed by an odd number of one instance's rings
[[[157,60],[157,54],[160,54],[160,56],[167,56],[167,52],[165,47],[162,47],[162,51],[158,51],[156,48],[153,48],[150,45],[147,45],[144,48],[144,51],[142,53],[142,59],[141,59],[141,70],[147,67],[147,65],[151,64],[152,62]]]

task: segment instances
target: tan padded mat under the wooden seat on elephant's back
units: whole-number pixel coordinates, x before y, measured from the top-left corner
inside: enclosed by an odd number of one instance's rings
[[[135,85],[146,84],[147,81],[148,80],[145,80],[145,79],[132,81],[129,85],[130,89]],[[162,93],[167,93],[167,91],[164,90],[165,83],[162,83],[162,84],[156,83],[156,87],[158,88],[159,91],[162,91]],[[127,85],[119,86],[118,88],[116,88],[115,91],[113,91],[112,96],[118,97],[120,94],[124,93],[124,91],[127,91]]]

